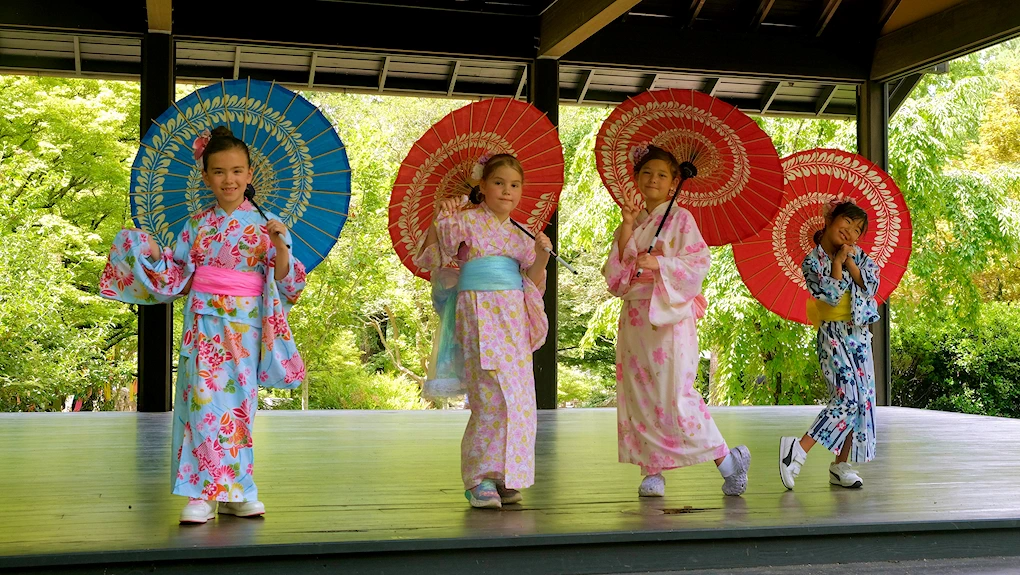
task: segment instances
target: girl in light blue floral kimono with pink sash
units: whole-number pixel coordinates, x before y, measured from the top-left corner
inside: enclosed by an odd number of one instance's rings
[[[194,148],[215,203],[188,218],[173,250],[121,230],[99,282],[132,304],[187,298],[170,454],[171,491],[189,498],[182,523],[265,513],[253,473],[258,386],[294,388],[305,376],[287,322],[305,285],[291,233],[254,204],[244,142],[220,126]]]

